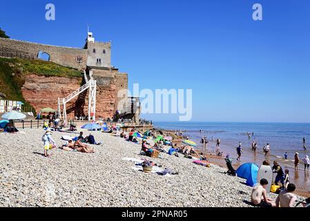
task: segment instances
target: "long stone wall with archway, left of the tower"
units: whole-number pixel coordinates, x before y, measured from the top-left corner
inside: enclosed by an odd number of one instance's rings
[[[77,68],[79,70],[86,69],[86,49],[49,46],[27,41],[0,38],[0,52],[17,53],[20,55],[28,55],[30,57],[38,57],[40,51],[46,52],[50,55],[50,61],[62,66]],[[77,57],[82,58],[80,63],[77,62]]]

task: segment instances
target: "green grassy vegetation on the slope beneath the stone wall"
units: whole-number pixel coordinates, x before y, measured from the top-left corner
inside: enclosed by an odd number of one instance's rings
[[[26,106],[30,106],[23,99],[21,88],[25,83],[25,77],[32,74],[69,78],[83,76],[79,70],[50,61],[0,57],[0,99],[21,101]]]

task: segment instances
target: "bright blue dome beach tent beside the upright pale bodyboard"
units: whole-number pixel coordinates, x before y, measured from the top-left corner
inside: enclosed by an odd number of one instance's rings
[[[236,173],[238,177],[246,179],[246,185],[254,186],[258,177],[258,166],[252,163],[245,163],[239,166]]]

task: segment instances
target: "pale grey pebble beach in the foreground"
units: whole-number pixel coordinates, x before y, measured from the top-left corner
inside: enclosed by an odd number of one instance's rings
[[[43,129],[0,133],[0,206],[250,206],[244,200],[251,201],[251,187],[224,174],[226,168],[196,165],[183,155],[145,157],[139,155],[139,144],[99,131],[92,134],[103,143],[93,145],[95,153],[55,148],[43,157]],[[54,132],[57,146],[65,143],[62,135],[77,136]],[[147,158],[178,174],[135,171],[135,163],[125,157]]]

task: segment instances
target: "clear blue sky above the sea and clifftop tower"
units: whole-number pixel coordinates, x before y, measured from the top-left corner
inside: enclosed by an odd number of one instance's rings
[[[254,3],[262,21],[252,19]],[[82,47],[86,23],[96,40],[112,41],[130,88],[193,89],[193,121],[310,122],[308,0],[1,3],[0,27],[13,39]]]

